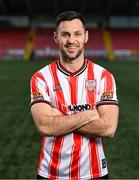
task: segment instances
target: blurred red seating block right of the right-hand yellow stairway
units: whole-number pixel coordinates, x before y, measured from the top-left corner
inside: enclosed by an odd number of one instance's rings
[[[112,50],[117,59],[139,59],[139,29],[110,29]]]

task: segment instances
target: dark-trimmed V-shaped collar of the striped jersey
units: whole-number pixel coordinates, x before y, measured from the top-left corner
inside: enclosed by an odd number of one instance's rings
[[[58,69],[59,69],[62,73],[64,73],[64,74],[67,75],[67,76],[78,76],[78,75],[80,75],[82,72],[85,71],[85,69],[87,68],[87,63],[88,63],[88,60],[85,59],[82,67],[81,67],[80,69],[78,69],[77,71],[75,71],[74,73],[68,71],[67,69],[65,69],[65,68],[62,66],[62,64],[60,63],[59,60],[57,61],[57,67],[58,67]]]

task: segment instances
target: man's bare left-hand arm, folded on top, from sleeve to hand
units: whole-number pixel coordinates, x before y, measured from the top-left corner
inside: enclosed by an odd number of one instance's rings
[[[63,115],[47,103],[33,104],[31,113],[38,131],[44,136],[60,136],[70,133],[99,117],[97,110]]]

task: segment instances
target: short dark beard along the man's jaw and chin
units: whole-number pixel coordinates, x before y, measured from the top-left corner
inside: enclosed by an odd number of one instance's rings
[[[83,48],[79,49],[76,53],[67,53],[63,48],[60,49],[61,56],[64,61],[73,61],[77,59],[83,52]]]

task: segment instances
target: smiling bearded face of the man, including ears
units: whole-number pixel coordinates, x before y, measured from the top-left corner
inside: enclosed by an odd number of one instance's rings
[[[88,40],[88,32],[84,30],[79,19],[62,21],[54,33],[55,42],[59,45],[63,60],[75,60],[83,57],[84,44]]]

